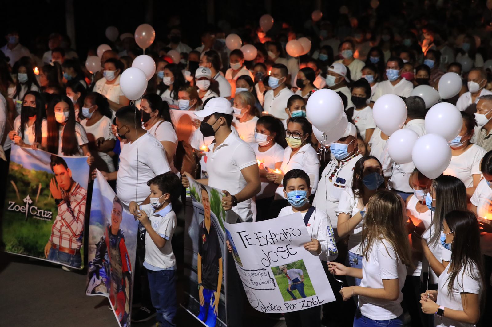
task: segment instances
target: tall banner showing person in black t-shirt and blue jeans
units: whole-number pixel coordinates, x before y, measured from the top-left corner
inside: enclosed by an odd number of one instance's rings
[[[220,190],[189,178],[184,222],[186,310],[209,327],[225,327],[226,212]]]

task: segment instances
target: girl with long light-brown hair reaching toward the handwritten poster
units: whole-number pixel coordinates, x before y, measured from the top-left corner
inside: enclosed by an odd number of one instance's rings
[[[343,300],[359,296],[355,327],[403,326],[401,288],[406,277],[405,265],[412,265],[405,220],[401,198],[391,191],[377,191],[369,199],[364,216],[362,269],[328,263],[334,274],[362,278],[360,286],[340,290]]]

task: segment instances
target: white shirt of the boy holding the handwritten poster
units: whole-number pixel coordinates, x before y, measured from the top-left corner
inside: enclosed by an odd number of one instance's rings
[[[294,214],[292,206],[287,206],[280,210],[278,217]],[[307,212],[301,213],[301,216],[306,216]],[[337,259],[338,249],[335,242],[335,233],[333,231],[330,219],[326,214],[319,210],[314,209],[314,212],[309,217],[306,225],[307,234],[311,235],[311,238],[316,239],[321,244],[321,254],[319,258],[323,261],[331,261]],[[315,252],[311,252],[313,255],[317,255]]]

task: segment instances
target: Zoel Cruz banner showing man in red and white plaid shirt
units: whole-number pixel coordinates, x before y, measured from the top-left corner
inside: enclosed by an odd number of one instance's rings
[[[12,144],[3,215],[5,251],[83,268],[87,157]]]

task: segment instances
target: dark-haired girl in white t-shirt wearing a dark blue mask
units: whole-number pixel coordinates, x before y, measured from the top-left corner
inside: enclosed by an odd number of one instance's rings
[[[335,213],[338,216],[338,237],[348,238],[346,265],[362,269],[362,224],[369,198],[377,191],[384,190],[381,163],[372,156],[359,159],[354,167],[351,187],[341,193]],[[360,285],[360,278],[347,278],[350,286]]]

